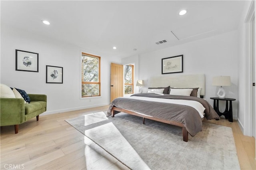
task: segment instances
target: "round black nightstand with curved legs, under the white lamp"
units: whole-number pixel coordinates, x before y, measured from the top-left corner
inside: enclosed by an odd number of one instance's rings
[[[214,100],[213,109],[216,111],[216,113],[218,113],[219,116],[224,115],[225,118],[228,119],[228,121],[233,122],[232,101],[236,99],[232,99],[232,98],[220,99],[218,97],[210,97],[210,99]],[[226,109],[223,113],[221,113],[219,110],[219,100],[226,101]],[[229,101],[229,109],[228,109],[228,101]]]

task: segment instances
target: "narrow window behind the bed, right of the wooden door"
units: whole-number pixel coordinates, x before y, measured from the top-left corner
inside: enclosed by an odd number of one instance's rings
[[[124,66],[124,94],[131,94],[134,91],[134,65]]]

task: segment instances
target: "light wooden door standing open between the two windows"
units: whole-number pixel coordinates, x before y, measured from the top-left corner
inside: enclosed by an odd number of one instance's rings
[[[124,96],[124,66],[111,63],[110,67],[110,102]]]

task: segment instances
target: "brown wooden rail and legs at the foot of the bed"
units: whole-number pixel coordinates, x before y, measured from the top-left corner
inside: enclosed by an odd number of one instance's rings
[[[166,121],[164,119],[158,119],[158,118],[150,117],[150,116],[147,116],[147,115],[141,115],[141,114],[138,114],[136,112],[129,111],[129,110],[126,110],[126,109],[121,109],[121,108],[118,108],[118,107],[113,107],[112,108],[112,111],[111,111],[111,116],[112,117],[115,116],[115,111],[119,111],[119,112],[123,112],[123,113],[128,113],[130,115],[135,115],[135,116],[138,116],[138,117],[142,117],[143,124],[145,124],[145,118],[146,118],[146,119],[151,119],[151,120],[154,120],[154,121],[158,121],[158,122],[167,123],[167,124],[170,124],[170,125],[175,125],[175,126],[178,126],[178,127],[182,127],[183,141],[188,142],[188,131],[182,123],[178,123],[178,122],[174,122],[174,121]]]

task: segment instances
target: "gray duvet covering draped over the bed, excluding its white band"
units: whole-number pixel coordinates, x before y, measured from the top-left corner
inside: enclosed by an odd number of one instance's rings
[[[178,95],[158,95],[156,93],[140,93],[134,94],[132,96],[140,97],[156,97],[164,99],[182,99],[182,100],[193,100],[200,102],[205,108],[205,117],[206,119],[219,119],[220,117],[214,111],[212,106],[198,97],[190,96],[178,96]],[[108,109],[107,115],[111,115],[111,110],[113,107],[118,107],[122,109],[127,109],[142,113],[148,116],[156,117],[158,119],[175,121],[182,123],[184,127],[188,130],[188,133],[191,136],[196,135],[196,133],[202,130],[202,119],[193,107],[185,105],[177,105],[171,103],[161,103],[154,101],[143,101],[137,99],[130,99],[129,97],[118,97],[112,101]]]

